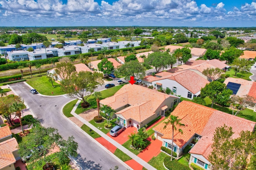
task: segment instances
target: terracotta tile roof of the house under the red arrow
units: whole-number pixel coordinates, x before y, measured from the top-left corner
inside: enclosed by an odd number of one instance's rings
[[[134,119],[142,122],[155,114],[156,109],[166,98],[178,98],[152,90],[136,84],[126,84],[118,90],[114,96],[100,100],[100,104],[108,105],[112,109],[118,109],[129,104],[129,107],[118,111],[116,114],[122,114],[126,119]],[[162,106],[161,106],[162,105]]]

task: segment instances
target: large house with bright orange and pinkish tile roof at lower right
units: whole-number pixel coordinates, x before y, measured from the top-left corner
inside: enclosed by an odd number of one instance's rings
[[[172,112],[172,115],[181,119],[180,123],[185,126],[179,126],[183,134],[174,131],[173,150],[177,156],[182,154],[182,150],[187,146],[194,144],[190,150],[190,162],[204,168],[211,169],[211,163],[208,159],[213,143],[212,137],[215,129],[226,125],[232,127],[233,138],[237,138],[241,131],[254,131],[256,122],[243,119],[222,111],[202,106],[193,102],[182,101]],[[162,145],[172,149],[172,126],[164,129],[164,122],[153,128],[156,139],[162,141]]]

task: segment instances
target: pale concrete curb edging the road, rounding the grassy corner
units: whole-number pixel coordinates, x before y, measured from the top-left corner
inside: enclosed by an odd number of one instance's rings
[[[76,100],[76,99],[74,99]],[[72,100],[72,101],[74,101]],[[70,101],[70,102],[72,102]],[[66,117],[63,113],[63,108],[64,106],[66,106],[68,103],[70,102],[67,102],[66,104],[64,104],[62,107],[61,107],[61,114],[62,116],[64,116],[66,119],[68,119],[68,117]],[[80,103],[81,100],[78,100],[78,102]],[[77,102],[77,103],[78,103]],[[77,104],[76,103],[76,104]],[[75,107],[74,107],[75,108]],[[74,109],[73,108],[73,109]],[[76,114],[76,113],[75,113]],[[97,144],[99,147],[101,147],[103,150],[105,150],[106,152],[108,152],[108,154],[111,154],[116,160],[118,160],[118,162],[120,162],[121,164],[123,164],[126,168],[132,170],[132,168],[130,166],[128,166],[126,163],[124,163],[122,160],[120,160],[120,158],[118,158],[116,155],[114,155],[112,152],[110,152],[108,149],[106,149],[101,143],[99,143],[98,141],[96,141],[93,137],[91,137],[88,133],[86,133],[85,131],[83,131],[78,125],[76,125],[74,122],[72,122],[70,119],[68,119],[68,121],[70,121],[70,123],[72,123],[75,127],[77,127],[82,133],[84,133],[84,135],[86,135],[87,137],[89,137],[90,139],[92,139],[92,141]]]

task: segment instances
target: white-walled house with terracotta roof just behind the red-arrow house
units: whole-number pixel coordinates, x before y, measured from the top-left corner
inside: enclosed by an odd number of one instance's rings
[[[209,83],[204,77],[191,70],[176,73],[160,72],[156,76],[146,76],[143,82],[155,89],[169,88],[172,92],[183,98],[192,99],[200,95],[201,88]]]

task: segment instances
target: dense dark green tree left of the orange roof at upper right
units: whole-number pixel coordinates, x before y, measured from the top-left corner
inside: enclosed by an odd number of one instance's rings
[[[230,47],[230,49],[225,51],[225,53],[222,53],[222,55],[220,56],[220,60],[222,61],[226,60],[226,62],[232,63],[234,59],[240,57],[240,55],[242,54],[243,54],[242,50],[236,49],[235,47]]]

